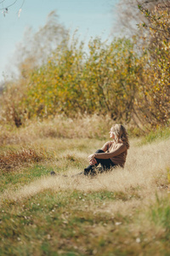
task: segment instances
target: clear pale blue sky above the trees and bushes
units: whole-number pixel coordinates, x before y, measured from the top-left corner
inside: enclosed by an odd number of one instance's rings
[[[45,25],[48,14],[56,10],[59,23],[66,29],[78,29],[82,39],[110,37],[119,0],[0,0],[0,81],[14,67],[16,45],[26,27]],[[11,6],[10,6],[11,5]],[[8,7],[9,6],[9,7]],[[8,13],[4,13],[8,7]],[[20,17],[19,17],[19,10]]]

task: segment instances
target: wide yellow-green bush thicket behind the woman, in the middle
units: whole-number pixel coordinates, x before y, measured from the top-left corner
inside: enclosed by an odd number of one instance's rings
[[[7,88],[3,116],[16,126],[61,113],[110,114],[129,122],[142,68],[133,42],[119,38],[102,43],[95,38],[88,44],[88,55],[83,47],[77,40],[62,42],[47,63],[34,69],[23,90]],[[14,91],[17,101],[12,101]]]

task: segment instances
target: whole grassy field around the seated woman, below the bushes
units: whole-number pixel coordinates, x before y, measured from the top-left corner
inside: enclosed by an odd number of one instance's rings
[[[167,133],[151,143],[130,138],[123,170],[71,177],[109,140],[86,134],[1,131],[0,255],[170,254]]]

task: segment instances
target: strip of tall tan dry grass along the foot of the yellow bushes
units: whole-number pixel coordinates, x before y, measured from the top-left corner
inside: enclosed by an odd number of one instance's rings
[[[107,124],[107,125],[105,125]],[[0,125],[0,145],[14,143],[31,143],[40,138],[96,138],[107,137],[113,124],[109,116],[84,115],[77,119],[66,119],[63,116],[42,122],[29,122],[25,127],[12,129]],[[12,129],[12,130],[11,130]]]

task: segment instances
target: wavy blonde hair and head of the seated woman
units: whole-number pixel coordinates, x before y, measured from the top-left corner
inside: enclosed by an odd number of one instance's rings
[[[126,144],[127,148],[129,148],[128,135],[125,127],[121,124],[113,125],[112,131],[115,133],[115,140],[118,143],[119,141]]]

